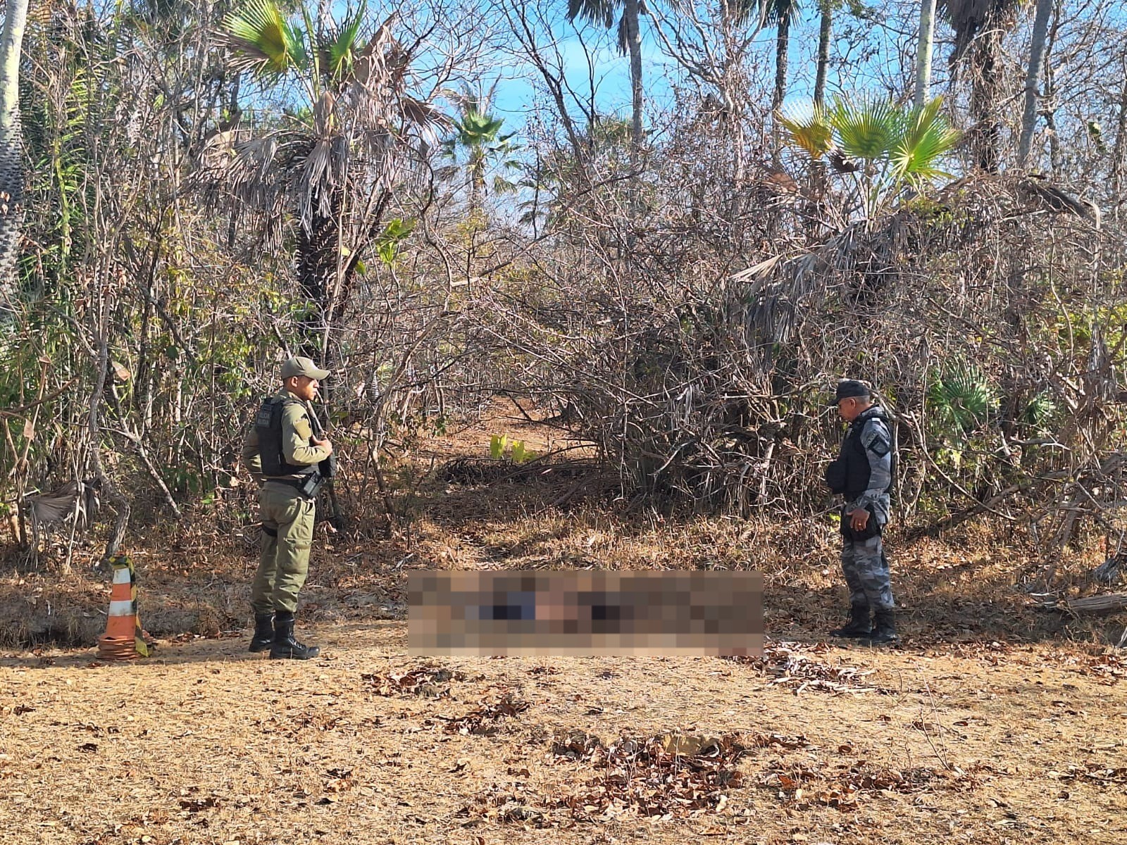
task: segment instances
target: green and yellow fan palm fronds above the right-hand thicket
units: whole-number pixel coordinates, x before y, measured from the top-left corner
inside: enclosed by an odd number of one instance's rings
[[[920,188],[950,176],[939,169],[939,161],[959,133],[940,114],[941,105],[941,97],[911,109],[890,100],[835,97],[828,109],[815,105],[778,117],[789,145],[814,161],[825,157],[837,172],[853,175],[866,219],[872,222],[905,185]]]

